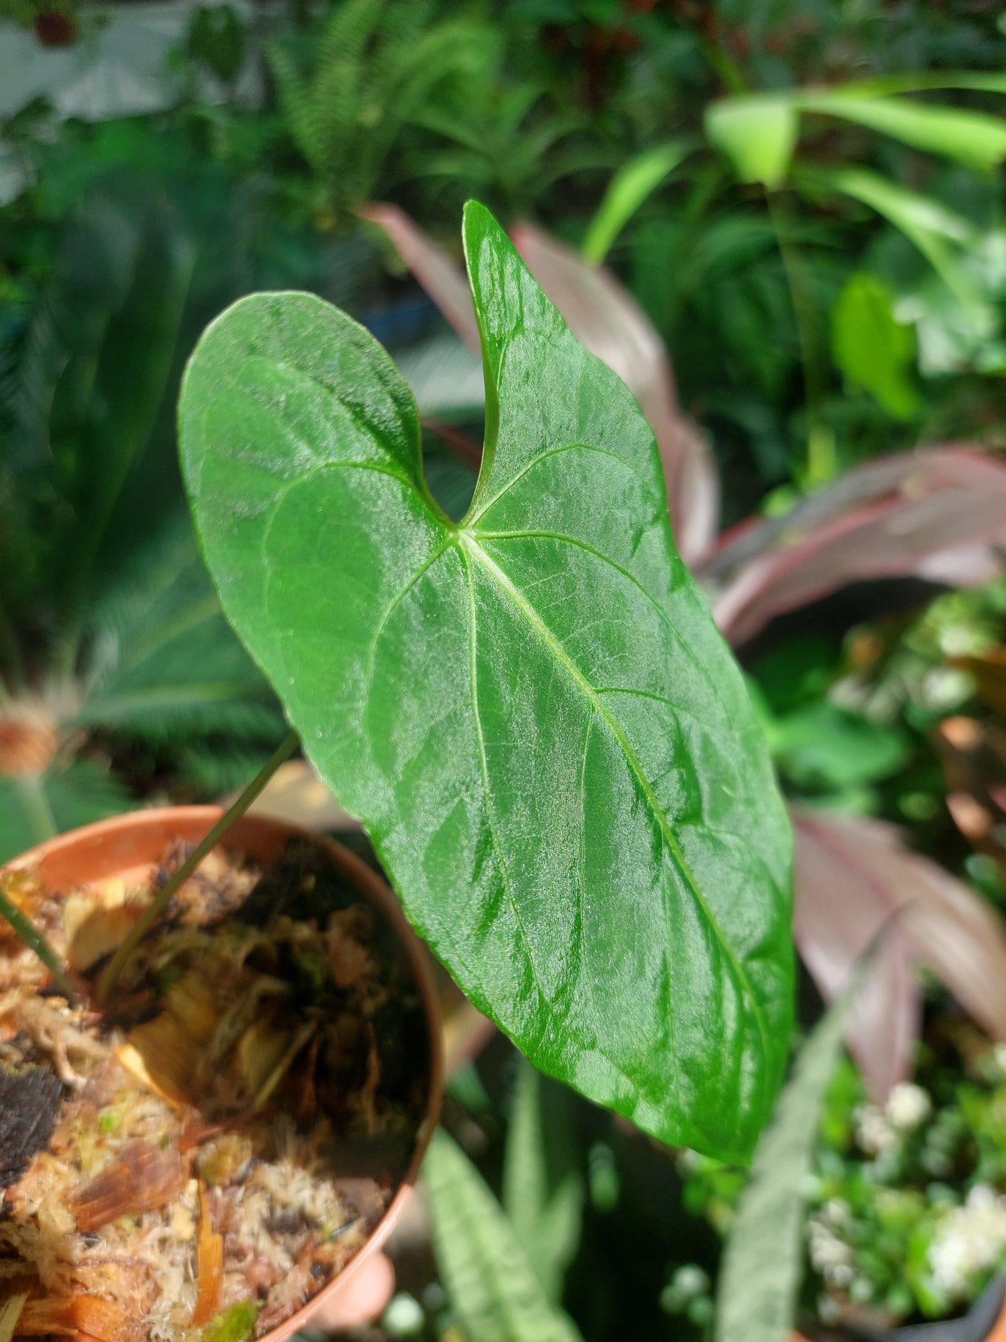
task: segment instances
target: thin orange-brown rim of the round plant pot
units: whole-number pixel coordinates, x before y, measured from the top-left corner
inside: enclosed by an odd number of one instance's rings
[[[114,863],[115,847],[129,839],[142,840],[146,837],[152,845],[157,841],[162,851],[165,833],[173,828],[190,831],[190,833],[185,835],[176,833],[176,837],[188,837],[192,841],[199,841],[204,833],[209,832],[223,813],[221,807],[212,805],[152,807],[142,811],[129,811],[121,816],[111,816],[109,820],[98,820],[90,825],[80,825],[76,829],[70,829],[66,833],[56,835],[56,837],[46,840],[46,843],[38,844],[35,848],[28,848],[25,852],[19,854],[16,858],[4,863],[4,866],[0,867],[0,872],[35,867],[54,859],[58,862],[67,862],[74,858],[75,851],[85,859],[90,858],[91,860],[95,860],[102,852],[106,852],[109,847],[113,848],[113,854],[109,860],[110,863]],[[144,836],[145,829],[149,831],[149,835],[146,836]],[[335,1276],[326,1282],[321,1291],[313,1295],[307,1304],[303,1304],[299,1310],[291,1314],[288,1319],[278,1323],[276,1327],[271,1329],[268,1333],[263,1333],[259,1342],[284,1342],[284,1339],[292,1333],[296,1333],[298,1329],[309,1326],[315,1311],[325,1303],[330,1302],[346,1286],[353,1274],[359,1268],[359,1264],[372,1257],[384,1245],[385,1240],[392,1233],[392,1229],[401,1219],[409,1198],[412,1197],[416,1180],[418,1178],[420,1166],[423,1165],[423,1157],[427,1153],[427,1147],[440,1119],[440,1103],[444,1087],[440,1000],[433,981],[429,953],[413,931],[390,886],[381,876],[378,876],[377,872],[368,867],[361,858],[338,843],[338,840],[331,839],[325,833],[304,829],[300,825],[288,824],[284,820],[272,820],[268,816],[245,813],[235,823],[233,828],[224,835],[220,840],[220,847],[228,851],[241,851],[245,847],[249,847],[254,854],[254,845],[249,844],[248,840],[259,839],[259,847],[264,843],[264,847],[275,847],[275,849],[279,851],[287,839],[295,836],[311,839],[327,848],[346,875],[358,887],[361,894],[380,909],[382,915],[394,929],[398,941],[405,949],[409,968],[412,969],[423,998],[429,1043],[429,1084],[427,1090],[425,1115],[416,1130],[416,1145],[412,1151],[412,1158],[405,1174],[394,1190],[392,1201],[385,1208],[384,1216],[342,1271],[337,1272]],[[244,843],[241,843],[243,837],[245,840]],[[127,864],[123,860],[119,863],[118,870],[129,871],[130,866],[133,870],[138,870],[142,866],[153,866],[157,858],[153,855],[149,860],[134,860],[131,864]],[[113,864],[105,875],[111,875],[114,871],[115,867]],[[90,879],[94,880],[99,878],[94,875]],[[87,878],[85,878],[85,882]],[[60,882],[60,884],[63,884],[63,882]]]

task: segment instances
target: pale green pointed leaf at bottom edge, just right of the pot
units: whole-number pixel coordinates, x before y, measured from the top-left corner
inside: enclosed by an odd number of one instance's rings
[[[444,1130],[423,1176],[440,1279],[471,1342],[579,1342],[531,1271],[526,1245],[468,1157]]]

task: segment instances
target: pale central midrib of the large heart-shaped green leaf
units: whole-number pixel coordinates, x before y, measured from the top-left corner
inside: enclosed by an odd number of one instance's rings
[[[457,537],[457,544],[463,546],[465,554],[486,569],[486,572],[502,589],[502,592],[507,596],[511,604],[515,605],[516,609],[524,616],[524,619],[531,625],[531,628],[534,629],[535,635],[539,637],[542,644],[549,650],[549,652],[555,658],[555,660],[565,667],[565,670],[569,672],[574,683],[579,687],[588,703],[590,703],[593,710],[604,719],[604,722],[612,731],[612,735],[618,742],[618,746],[621,747],[622,754],[625,756],[629,769],[638,781],[647,805],[652,812],[655,820],[660,825],[661,836],[668,847],[668,851],[671,852],[673,862],[676,863],[679,871],[681,872],[681,876],[684,878],[684,882],[688,890],[691,891],[696,905],[702,909],[703,914],[708,919],[710,927],[715,933],[716,941],[720,945],[726,961],[732,969],[738,985],[740,986],[744,997],[747,998],[747,1004],[758,1025],[758,1035],[762,1041],[763,1056],[767,1059],[770,1056],[770,1049],[769,1049],[769,1039],[761,1002],[758,1001],[752,990],[751,981],[747,973],[744,972],[743,966],[736,958],[732,946],[727,941],[723,929],[719,925],[719,921],[710,909],[706,895],[702,892],[699,882],[695,878],[695,872],[691,870],[688,860],[685,859],[684,852],[681,851],[681,845],[677,841],[677,836],[671,829],[667,815],[664,813],[664,809],[661,808],[656,797],[656,793],[653,792],[653,788],[649,780],[647,778],[642,765],[636,752],[633,750],[632,743],[625,735],[621,723],[617,721],[617,718],[612,715],[604,698],[597,694],[594,687],[590,684],[583,672],[566,652],[566,650],[555,637],[549,625],[545,623],[542,616],[531,605],[531,603],[520,592],[520,589],[515,586],[515,584],[510,580],[510,577],[504,573],[504,570],[500,569],[499,565],[482,549],[482,546],[478,544],[478,541],[469,531],[459,527],[455,534]]]

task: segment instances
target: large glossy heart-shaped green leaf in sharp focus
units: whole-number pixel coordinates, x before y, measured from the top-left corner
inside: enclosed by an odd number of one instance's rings
[[[220,317],[181,448],[223,607],[416,927],[542,1071],[746,1157],[791,1011],[790,827],[653,433],[480,205],[487,435],[453,523],[377,342]]]

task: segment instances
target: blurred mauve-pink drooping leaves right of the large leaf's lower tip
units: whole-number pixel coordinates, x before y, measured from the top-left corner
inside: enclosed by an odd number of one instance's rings
[[[909,1068],[917,990],[904,981],[905,956],[936,974],[995,1039],[1006,1039],[1006,925],[987,900],[907,848],[893,825],[806,809],[794,809],[793,819],[794,935],[825,998],[841,990],[876,929],[899,915],[892,937],[904,951],[881,954],[871,968],[872,1009],[857,1017],[849,1040],[873,1094],[883,1099]]]

